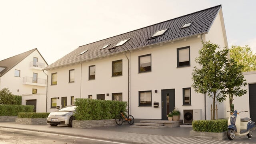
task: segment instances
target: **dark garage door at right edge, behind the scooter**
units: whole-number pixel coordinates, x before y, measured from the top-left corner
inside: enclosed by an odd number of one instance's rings
[[[252,121],[256,121],[256,83],[249,84],[249,105],[250,105],[250,118]]]

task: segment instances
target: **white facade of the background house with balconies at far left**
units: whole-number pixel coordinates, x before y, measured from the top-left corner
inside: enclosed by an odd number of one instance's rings
[[[36,112],[46,112],[46,85],[38,86],[36,83],[34,85],[23,84],[23,77],[33,77],[33,73],[38,74],[38,79],[47,79],[42,70],[30,67],[33,57],[37,57],[38,62],[45,63],[45,67],[47,66],[42,56],[35,50],[1,77],[0,89],[8,88],[12,94],[22,96],[22,105],[26,105],[27,100],[36,99]],[[14,76],[15,69],[20,70],[20,77]],[[37,94],[32,95],[32,89],[37,89]]]

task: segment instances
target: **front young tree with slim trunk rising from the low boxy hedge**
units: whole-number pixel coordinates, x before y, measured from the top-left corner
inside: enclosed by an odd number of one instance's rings
[[[212,98],[213,109],[216,101],[222,102],[226,99],[226,95],[221,92],[225,89],[227,55],[228,49],[221,50],[218,45],[210,41],[203,43],[199,57],[196,58],[200,69],[195,66],[192,72],[192,87],[197,93],[207,94]],[[212,119],[215,119],[215,110],[213,110]]]

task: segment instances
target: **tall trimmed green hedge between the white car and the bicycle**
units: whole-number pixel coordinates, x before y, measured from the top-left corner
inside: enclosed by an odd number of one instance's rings
[[[76,99],[78,107],[74,114],[76,120],[114,119],[119,111],[125,111],[127,102],[96,99]]]

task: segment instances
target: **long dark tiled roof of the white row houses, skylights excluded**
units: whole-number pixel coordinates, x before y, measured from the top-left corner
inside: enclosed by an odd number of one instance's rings
[[[48,70],[54,67],[70,65],[98,57],[105,57],[107,55],[138,49],[140,47],[208,33],[220,9],[221,5],[214,6],[212,8],[187,14],[165,22],[160,22],[158,24],[120,34],[118,36],[82,45],[45,69]],[[182,28],[184,24],[190,22],[192,22],[192,24],[189,27]],[[150,39],[157,31],[166,28],[168,28],[168,30],[163,35]],[[124,39],[129,40],[123,45],[114,47],[118,42]],[[108,45],[108,47],[101,49],[105,45]],[[82,52],[84,53],[81,54]]]

